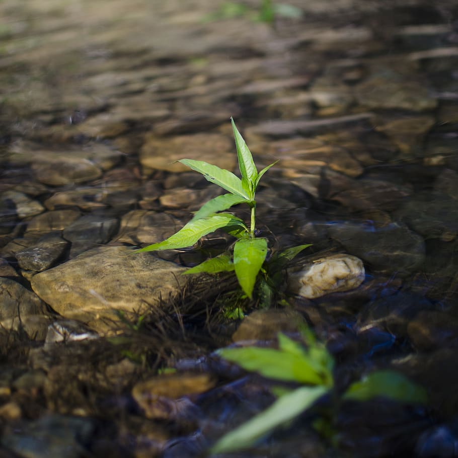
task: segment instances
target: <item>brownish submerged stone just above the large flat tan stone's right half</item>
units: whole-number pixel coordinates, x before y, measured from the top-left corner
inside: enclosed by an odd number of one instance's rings
[[[121,218],[119,232],[114,240],[133,245],[162,242],[183,225],[170,213],[131,210]]]

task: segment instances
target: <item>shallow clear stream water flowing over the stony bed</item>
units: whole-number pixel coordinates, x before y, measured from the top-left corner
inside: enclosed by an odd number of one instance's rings
[[[239,326],[214,305],[234,282],[179,275],[228,239],[127,256],[218,195],[174,161],[236,171],[231,116],[258,169],[279,160],[257,194],[274,249],[313,243],[306,256],[366,272],[351,291],[285,296],[295,315],[253,319],[241,340],[274,345],[303,320],[339,390],[394,368],[430,398],[346,406],[333,440],[304,416],[240,456],[456,454],[458,10],[289,3],[302,17],[273,24],[204,0],[0,4],[5,456],[198,456],[272,402],[211,354]],[[178,381],[156,377],[166,366]]]

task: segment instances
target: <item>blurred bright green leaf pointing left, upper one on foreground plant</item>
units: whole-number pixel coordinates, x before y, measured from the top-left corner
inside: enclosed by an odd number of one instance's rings
[[[223,348],[217,353],[245,370],[259,372],[264,377],[311,385],[323,384],[322,374],[306,355],[259,347]]]

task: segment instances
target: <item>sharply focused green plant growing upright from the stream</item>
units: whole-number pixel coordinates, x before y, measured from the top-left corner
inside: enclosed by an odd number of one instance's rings
[[[251,152],[238,131],[234,120],[231,118],[234,136],[236,140],[237,157],[242,178],[232,172],[220,169],[217,166],[204,161],[193,159],[181,159],[180,163],[201,173],[206,180],[215,183],[228,191],[206,202],[193,216],[193,218],[181,228],[180,231],[160,243],[149,245],[136,252],[170,250],[185,248],[194,245],[201,237],[210,234],[217,229],[223,229],[228,234],[237,238],[233,253],[224,253],[214,258],[207,259],[201,264],[188,269],[185,273],[206,272],[210,274],[218,272],[235,271],[240,286],[245,294],[252,298],[253,289],[259,272],[261,271],[267,256],[267,239],[255,236],[256,227],[256,189],[263,175],[276,164],[268,165],[258,173]],[[246,204],[251,209],[250,225],[247,227],[242,219],[231,213],[224,212],[228,208]],[[273,273],[278,271],[278,266],[291,259],[304,248],[310,245],[294,247],[283,255],[276,254]],[[267,275],[267,270],[263,269]],[[274,275],[275,276],[275,275]],[[274,287],[272,281],[264,281],[266,288]]]

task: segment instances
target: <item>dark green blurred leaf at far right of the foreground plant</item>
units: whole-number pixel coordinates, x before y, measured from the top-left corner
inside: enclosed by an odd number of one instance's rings
[[[367,401],[385,397],[413,404],[426,404],[426,391],[410,381],[405,375],[393,370],[378,370],[351,384],[344,399]]]

